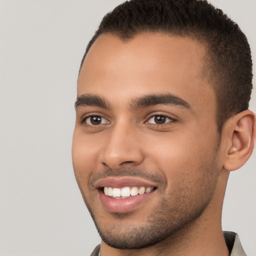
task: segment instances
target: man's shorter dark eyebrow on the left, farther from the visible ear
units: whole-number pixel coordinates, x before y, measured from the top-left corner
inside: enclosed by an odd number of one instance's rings
[[[98,106],[102,108],[110,108],[109,104],[102,97],[93,94],[82,94],[77,96],[74,103],[74,108],[77,109],[80,106]]]

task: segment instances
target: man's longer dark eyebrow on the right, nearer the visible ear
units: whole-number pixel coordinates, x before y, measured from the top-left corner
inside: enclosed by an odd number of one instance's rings
[[[191,106],[182,98],[172,94],[149,94],[142,97],[135,98],[131,101],[130,107],[137,109],[141,107],[153,106],[153,105],[175,105],[181,106],[192,110]]]

